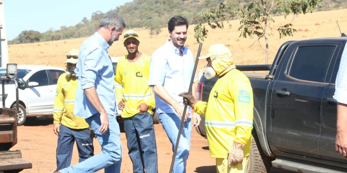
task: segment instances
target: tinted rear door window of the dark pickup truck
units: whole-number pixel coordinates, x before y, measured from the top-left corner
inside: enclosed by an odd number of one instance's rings
[[[305,81],[325,82],[330,61],[336,46],[303,46],[298,47],[289,76]]]

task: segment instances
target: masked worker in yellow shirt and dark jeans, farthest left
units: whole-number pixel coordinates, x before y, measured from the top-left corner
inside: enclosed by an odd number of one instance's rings
[[[77,90],[75,68],[78,50],[72,49],[65,61],[65,73],[58,78],[56,98],[53,108],[53,131],[58,135],[57,172],[70,166],[72,150],[76,141],[79,162],[94,155],[93,133],[84,118],[74,116],[74,103]]]

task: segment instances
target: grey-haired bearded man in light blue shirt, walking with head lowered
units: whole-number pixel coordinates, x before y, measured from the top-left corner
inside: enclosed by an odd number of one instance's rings
[[[78,77],[74,115],[85,118],[101,144],[101,153],[60,173],[89,173],[105,168],[105,173],[119,173],[122,159],[119,125],[116,120],[114,72],[107,49],[125,27],[117,13],[109,13],[98,31],[79,49],[75,70]]]

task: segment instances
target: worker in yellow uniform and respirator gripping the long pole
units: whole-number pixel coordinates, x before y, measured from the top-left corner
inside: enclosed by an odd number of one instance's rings
[[[246,172],[252,143],[253,92],[248,78],[235,69],[231,52],[223,44],[211,45],[207,55],[206,79],[219,76],[208,102],[192,94],[179,94],[194,111],[205,116],[211,157],[218,173]]]

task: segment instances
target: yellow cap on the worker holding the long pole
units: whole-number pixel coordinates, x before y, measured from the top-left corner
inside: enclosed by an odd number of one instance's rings
[[[200,56],[199,59],[206,59],[208,57],[214,58],[217,55],[218,58],[230,58],[231,52],[224,44],[213,44],[209,47],[207,54]]]

